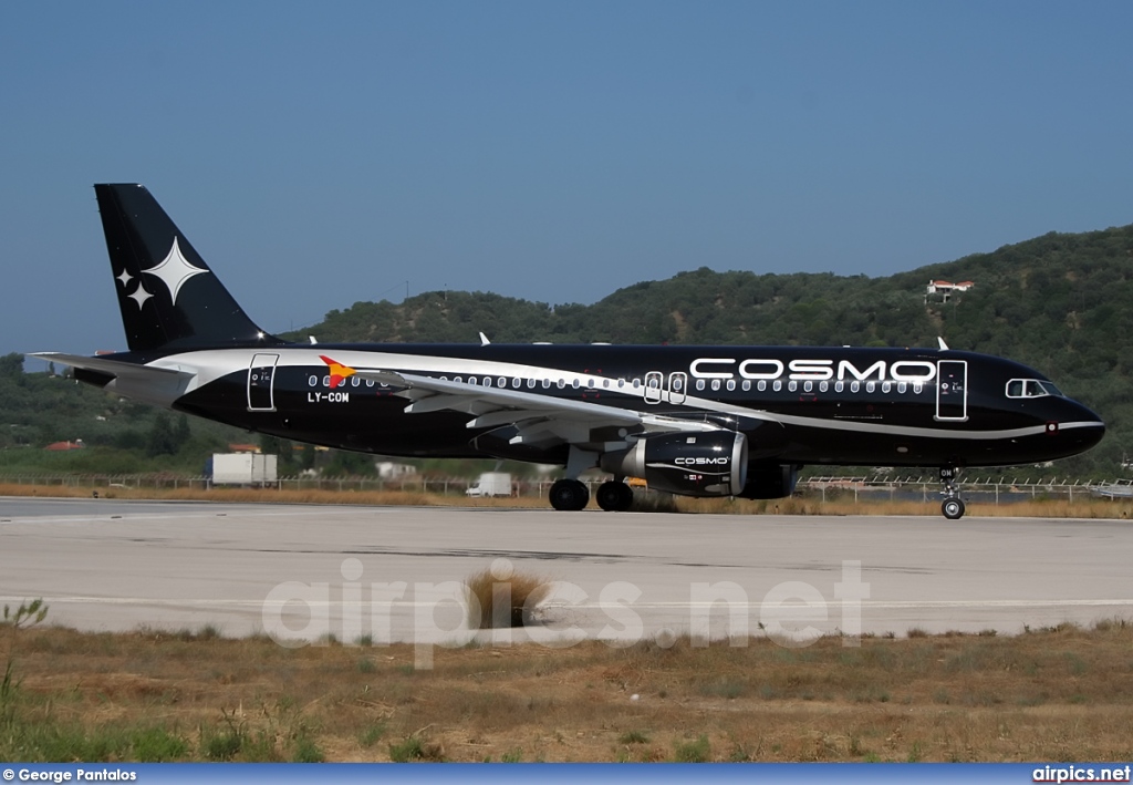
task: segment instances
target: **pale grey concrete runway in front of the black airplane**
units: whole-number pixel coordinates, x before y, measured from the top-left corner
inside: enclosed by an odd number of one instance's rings
[[[0,601],[289,644],[467,640],[458,583],[493,566],[553,582],[523,633],[548,644],[1019,633],[1133,617],[1131,556],[1125,521],[0,498]]]

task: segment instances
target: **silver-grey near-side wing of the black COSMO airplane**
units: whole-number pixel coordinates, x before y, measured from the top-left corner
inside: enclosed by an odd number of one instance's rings
[[[705,420],[670,417],[588,400],[563,400],[536,392],[414,373],[365,369],[357,369],[355,373],[363,379],[400,388],[394,395],[410,400],[404,410],[407,414],[446,410],[471,414],[468,428],[514,428],[511,444],[539,447],[570,444],[612,449],[611,442],[624,441],[629,445],[628,437],[649,432],[723,430],[717,423]]]

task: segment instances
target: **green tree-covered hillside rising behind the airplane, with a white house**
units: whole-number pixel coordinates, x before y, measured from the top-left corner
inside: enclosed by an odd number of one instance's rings
[[[394,305],[356,303],[296,334],[320,341],[793,344],[936,346],[1033,365],[1109,425],[1064,471],[1118,473],[1133,450],[1133,226],[1048,234],[888,278],[755,275],[700,268],[620,289],[594,305],[431,292]],[[947,303],[931,279],[971,280]]]

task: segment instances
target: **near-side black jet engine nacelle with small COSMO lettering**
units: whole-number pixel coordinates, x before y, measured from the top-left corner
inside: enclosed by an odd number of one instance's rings
[[[735,496],[748,479],[748,440],[735,431],[664,433],[606,453],[599,465],[681,496]]]

